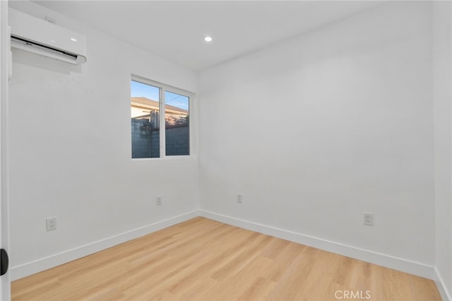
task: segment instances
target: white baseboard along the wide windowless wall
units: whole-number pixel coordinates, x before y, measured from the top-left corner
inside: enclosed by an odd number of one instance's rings
[[[367,261],[370,262],[371,264],[378,264],[379,266],[385,266],[387,268],[393,268],[398,271],[411,273],[413,275],[421,276],[424,278],[434,280],[436,276],[435,269],[433,266],[427,266],[426,264],[420,264],[415,261],[409,261],[406,259],[401,259],[386,254],[371,252],[365,249],[359,249],[357,247],[348,246],[346,244],[340,244],[338,242],[331,242],[329,240],[323,240],[318,237],[303,235],[297,232],[269,227],[268,225],[262,225],[259,223],[250,222],[248,220],[241,220],[239,218],[223,216],[222,214],[206,210],[200,210],[199,214],[200,216],[203,216],[205,218],[217,220],[219,222],[234,225],[239,228],[260,232],[266,235],[282,238],[284,240],[297,242],[299,244],[306,244],[309,247],[323,249],[328,252],[341,254],[343,256],[351,257],[353,259]]]

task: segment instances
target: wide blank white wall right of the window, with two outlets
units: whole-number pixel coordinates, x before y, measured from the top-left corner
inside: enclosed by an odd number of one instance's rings
[[[388,2],[202,71],[201,209],[434,266],[431,13]]]

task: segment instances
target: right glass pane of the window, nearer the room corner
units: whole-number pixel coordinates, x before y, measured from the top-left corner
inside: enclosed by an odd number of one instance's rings
[[[165,91],[166,155],[190,155],[189,97]]]

